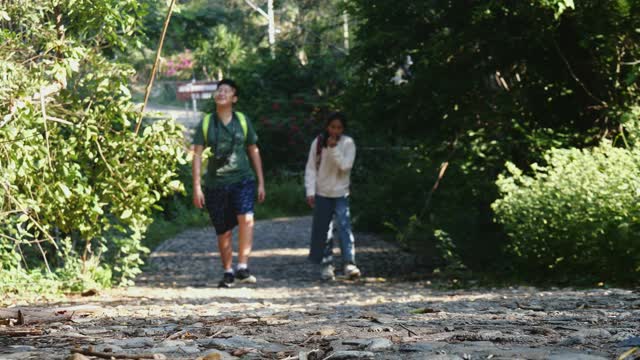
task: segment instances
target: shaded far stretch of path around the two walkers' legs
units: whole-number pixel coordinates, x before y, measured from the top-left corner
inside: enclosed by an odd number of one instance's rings
[[[249,261],[251,271],[258,278],[256,287],[300,287],[317,282],[319,267],[307,261],[310,229],[310,217],[256,222]],[[397,279],[420,271],[417,259],[393,244],[368,234],[355,234],[355,237],[356,260],[363,272],[362,281]],[[236,233],[234,249],[237,250]],[[336,244],[334,263],[337,269],[342,268],[339,252]],[[236,255],[234,252],[234,263]],[[215,232],[212,227],[207,227],[188,230],[161,244],[151,254],[149,264],[136,284],[210,287],[217,284],[221,274]]]

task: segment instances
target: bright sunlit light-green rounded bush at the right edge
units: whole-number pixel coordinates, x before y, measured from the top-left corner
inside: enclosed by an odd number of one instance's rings
[[[508,163],[493,205],[528,277],[634,280],[640,272],[640,152],[553,149],[526,175]],[[534,275],[535,274],[535,275]]]

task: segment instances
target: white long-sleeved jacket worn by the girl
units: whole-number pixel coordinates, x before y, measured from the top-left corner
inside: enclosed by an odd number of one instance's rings
[[[322,148],[320,168],[316,170],[316,146],[311,143],[304,172],[307,196],[343,197],[349,195],[351,168],[356,158],[356,144],[349,136],[342,135],[335,147]]]

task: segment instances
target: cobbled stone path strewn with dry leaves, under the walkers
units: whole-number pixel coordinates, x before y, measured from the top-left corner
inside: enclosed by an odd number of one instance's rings
[[[215,288],[212,229],[184,232],[153,252],[136,286],[50,304],[97,306],[91,316],[14,326],[34,335],[0,336],[0,359],[66,359],[74,348],[140,359],[610,359],[640,345],[638,291],[441,290],[409,280],[415,259],[366,234],[356,234],[364,277],[325,283],[305,261],[309,228],[307,217],[258,222],[259,282],[233,289]]]

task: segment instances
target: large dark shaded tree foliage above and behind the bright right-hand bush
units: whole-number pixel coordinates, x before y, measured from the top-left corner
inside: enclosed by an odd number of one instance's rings
[[[352,0],[347,8],[358,41],[341,104],[366,129],[359,145],[418,144],[427,155],[374,172],[385,184],[364,180],[367,196],[384,204],[366,202],[367,226],[389,222],[409,238],[428,224],[449,234],[470,267],[506,263],[496,261],[506,236],[490,208],[505,161],[524,167],[553,147],[629,140],[620,125],[638,103],[638,1]]]

